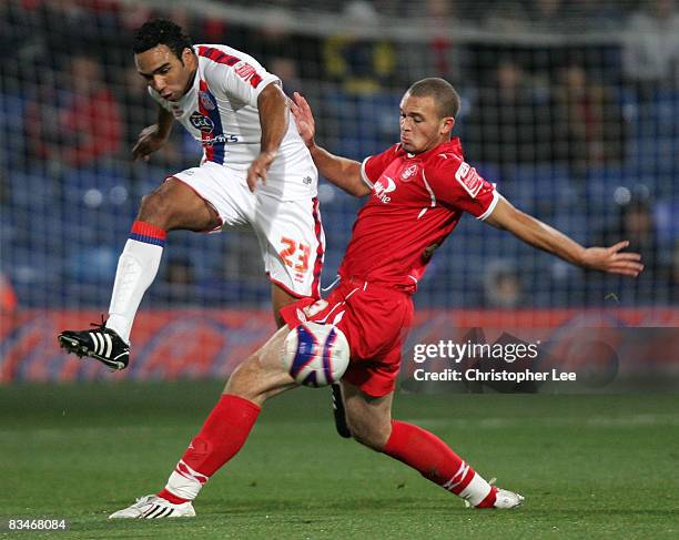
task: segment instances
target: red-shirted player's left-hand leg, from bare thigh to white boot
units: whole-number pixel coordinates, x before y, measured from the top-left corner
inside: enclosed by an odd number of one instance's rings
[[[156,495],[138,499],[134,505],[112,513],[110,518],[195,516],[191,501],[243,447],[264,401],[297,386],[285,370],[281,357],[288,333],[287,327],[278,329],[260,350],[236,368],[165,487]]]

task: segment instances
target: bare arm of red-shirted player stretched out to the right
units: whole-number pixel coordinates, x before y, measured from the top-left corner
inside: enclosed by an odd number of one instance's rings
[[[629,242],[618,242],[610,247],[584,247],[546,223],[515,208],[505,197],[500,198],[486,223],[504,228],[546,252],[584,268],[636,277],[643,269],[641,255],[622,252]]]

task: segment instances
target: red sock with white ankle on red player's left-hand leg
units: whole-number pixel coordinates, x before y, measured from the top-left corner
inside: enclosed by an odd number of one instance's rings
[[[194,499],[210,477],[243,447],[260,410],[245,398],[223,394],[159,497],[175,505]]]

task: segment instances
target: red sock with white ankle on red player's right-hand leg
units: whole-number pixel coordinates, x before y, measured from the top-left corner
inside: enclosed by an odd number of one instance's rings
[[[392,435],[382,450],[413,467],[444,489],[478,506],[495,490],[448,445],[434,434],[404,421],[392,420]]]

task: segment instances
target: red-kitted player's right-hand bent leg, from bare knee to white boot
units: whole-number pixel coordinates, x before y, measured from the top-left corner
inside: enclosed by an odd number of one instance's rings
[[[393,393],[372,397],[347,381],[342,386],[349,429],[362,445],[413,467],[473,507],[514,508],[524,500],[518,493],[490,486],[434,434],[393,420]]]

